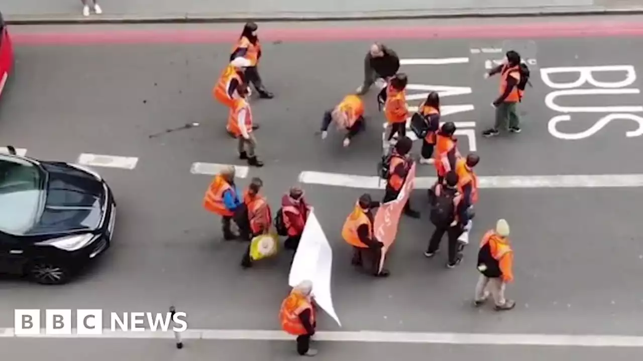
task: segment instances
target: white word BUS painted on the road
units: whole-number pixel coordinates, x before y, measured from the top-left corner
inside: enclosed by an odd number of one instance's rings
[[[552,75],[572,73],[577,74],[573,82],[554,82]],[[604,82],[594,78],[597,73],[617,73],[624,74],[615,82]],[[580,96],[585,98],[589,95],[631,95],[640,94],[640,89],[629,87],[637,80],[637,74],[631,65],[617,66],[576,66],[576,67],[546,67],[540,69],[540,76],[543,83],[548,87],[555,89],[545,96],[545,105],[554,112],[561,114],[549,119],[547,130],[558,139],[578,140],[586,139],[593,136],[599,130],[606,127],[611,121],[624,119],[636,123],[634,130],[625,133],[626,137],[643,136],[643,118],[632,113],[643,112],[643,106],[640,105],[595,105],[592,107],[565,107],[559,105],[557,98]],[[581,87],[585,84],[592,85],[592,88]],[[631,99],[630,102],[638,101],[637,97],[623,97],[624,103]],[[570,122],[572,114],[578,113],[609,113],[598,119],[591,127],[582,132],[566,133],[559,130],[560,123]]]

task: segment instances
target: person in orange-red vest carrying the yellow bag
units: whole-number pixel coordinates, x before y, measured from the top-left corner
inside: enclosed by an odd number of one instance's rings
[[[264,182],[260,178],[253,178],[244,191],[243,202],[248,210],[244,227],[239,226],[241,236],[244,240],[251,241],[253,238],[270,232],[272,213],[266,197],[260,194]],[[250,258],[250,245],[241,260],[241,267],[247,269],[252,267]]]

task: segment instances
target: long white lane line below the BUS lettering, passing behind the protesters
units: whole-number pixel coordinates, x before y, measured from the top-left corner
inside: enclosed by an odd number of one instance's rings
[[[415,189],[428,189],[435,177],[417,177]],[[643,187],[643,174],[601,175],[498,175],[478,177],[480,188],[635,188]],[[385,181],[376,175],[352,175],[327,172],[302,172],[299,181],[323,186],[384,189]]]

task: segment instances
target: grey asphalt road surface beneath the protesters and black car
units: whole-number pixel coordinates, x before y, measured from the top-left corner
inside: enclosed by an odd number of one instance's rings
[[[279,198],[297,184],[300,172],[374,175],[383,122],[374,95],[367,100],[367,132],[349,148],[341,147],[338,134],[331,132],[325,141],[314,134],[323,111],[361,82],[361,59],[368,44],[346,40],[264,45],[261,72],[276,98],[253,100],[253,113],[263,126],[257,131],[258,154],[266,166],[249,170],[239,186],[245,186],[250,177],[261,177],[264,193],[273,207],[278,207]],[[473,106],[473,110],[444,119],[475,123],[471,129],[482,157],[476,168],[479,175],[643,173],[643,164],[633,158],[641,153],[643,143],[637,136],[625,136],[635,130],[634,121],[611,121],[584,139],[553,136],[548,130],[550,119],[565,113],[546,105],[547,94],[557,89],[543,82],[540,74],[552,67],[632,66],[635,72],[643,71],[635,61],[643,40],[454,39],[433,40],[422,46],[415,40],[390,40],[388,45],[406,63],[427,58],[467,59],[458,60],[458,64],[404,65],[403,69],[410,83],[418,85],[416,89],[421,85],[471,88],[469,94],[443,95],[442,103]],[[508,47],[533,60],[533,87],[520,104],[523,132],[484,139],[480,132],[493,123],[489,103],[496,96],[498,80],[484,80],[482,75],[487,60],[502,58],[502,49]],[[87,153],[136,157],[138,162],[129,170],[96,168],[118,200],[116,234],[109,252],[87,274],[66,286],[3,280],[0,326],[13,326],[14,308],[162,312],[176,304],[188,313],[190,328],[278,329],[276,316],[288,290],[289,258],[284,254],[277,260],[257,263],[251,270],[240,269],[246,245],[222,241],[219,220],[201,207],[211,177],[190,172],[194,162],[245,165],[235,159],[235,141],[224,132],[226,110],[210,95],[229,49],[229,44],[18,44],[16,73],[0,101],[0,143],[26,148],[28,155],[46,159],[76,161],[79,154]],[[626,73],[604,71],[595,78],[619,82],[626,79]],[[577,78],[578,73],[551,77],[556,82]],[[637,78],[632,84],[615,86],[611,89],[638,91],[641,85]],[[587,84],[580,88],[592,89]],[[614,92],[560,96],[556,103],[564,107],[640,104],[639,94]],[[409,92],[415,93],[422,91]],[[637,109],[626,110],[570,112],[572,120],[557,129],[583,132],[608,114],[637,114]],[[150,138],[195,122],[199,127]],[[460,137],[460,145],[466,152],[471,141]],[[432,167],[420,168],[419,175],[433,175]],[[341,240],[340,229],[364,190],[306,185],[306,197],[334,250],[332,292],[344,326],[341,330],[640,335],[643,243],[638,197],[643,197],[643,191],[578,187],[482,191],[473,242],[498,218],[507,218],[516,252],[516,283],[507,295],[516,299],[518,306],[510,313],[498,314],[470,306],[477,279],[475,246],[466,250],[464,262],[453,270],[444,268],[446,252],[433,260],[424,258],[422,252],[432,230],[426,215],[422,220],[403,218],[388,261],[391,277],[374,279],[356,272],[349,264],[350,249]],[[370,192],[376,198],[382,195],[381,191]],[[426,211],[424,196],[423,191],[416,191],[412,202]],[[328,318],[320,321],[320,329],[340,330]],[[54,341],[0,339],[0,345],[8,342],[33,349],[32,342],[42,342],[39,347],[46,348],[44,342]],[[68,342],[73,349],[74,342],[80,341],[55,342]],[[166,346],[156,348],[154,342],[159,341],[109,342],[91,348],[92,352],[116,349],[125,353],[127,349],[131,350],[129,356],[151,349],[159,355],[167,352],[159,351]],[[149,347],[142,342],[149,342]],[[287,357],[282,356],[283,349],[290,347],[279,342],[253,342],[248,348],[239,342],[226,343],[229,355],[221,359],[236,359],[234,355],[244,352],[267,352],[283,359]],[[197,350],[190,352],[219,353],[222,346],[221,341],[199,341],[196,345]],[[369,345],[368,351],[350,343],[325,347],[332,348],[323,358],[328,360],[345,352],[394,357],[401,348],[411,356],[444,355],[460,360],[471,355],[473,346]],[[632,350],[604,349],[601,357],[595,351],[527,346],[512,346],[507,351],[480,346],[476,350],[498,360],[562,360],[568,358],[567,352],[574,358],[593,356],[597,360],[607,355],[615,360],[634,355]]]

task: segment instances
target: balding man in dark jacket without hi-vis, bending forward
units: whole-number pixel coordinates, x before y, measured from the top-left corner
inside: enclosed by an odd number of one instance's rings
[[[400,58],[392,49],[383,44],[375,43],[370,46],[364,58],[364,83],[357,93],[366,94],[377,78],[388,79],[394,76],[400,68]]]

